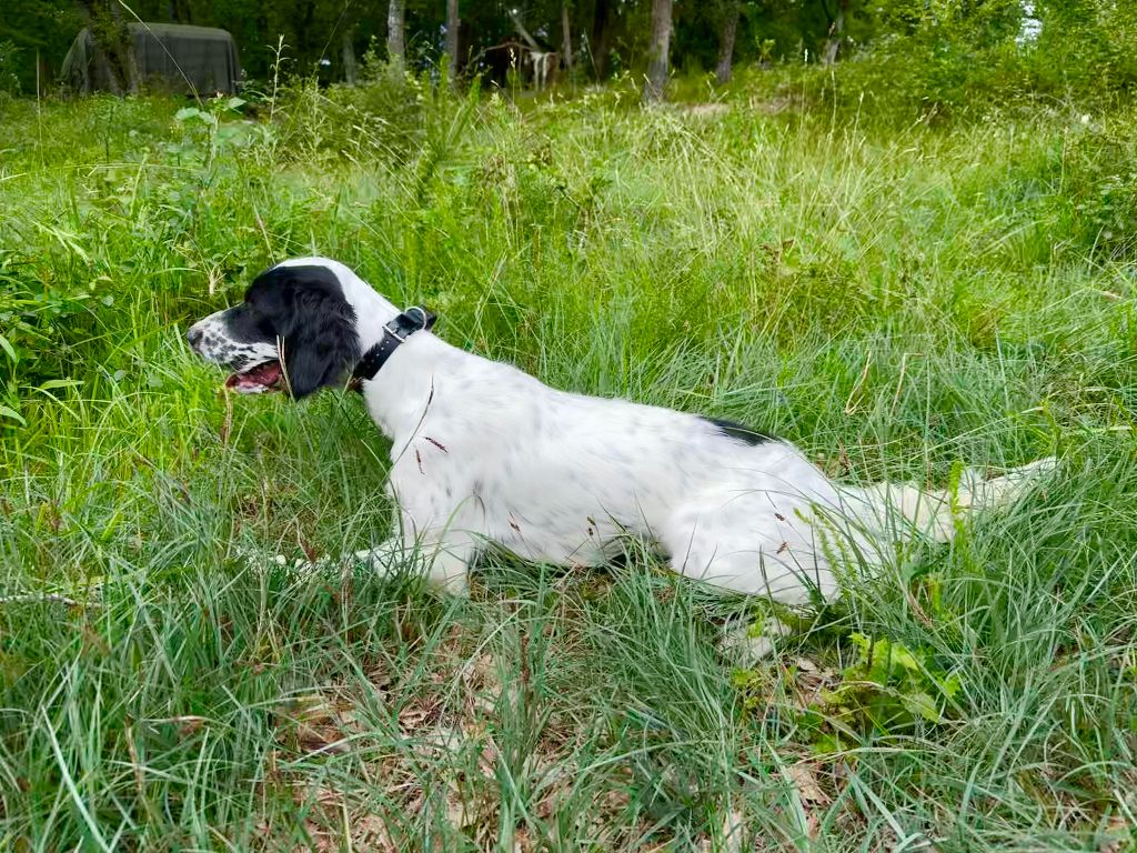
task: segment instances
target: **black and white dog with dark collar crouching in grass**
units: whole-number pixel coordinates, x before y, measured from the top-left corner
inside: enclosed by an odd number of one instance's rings
[[[480,548],[557,564],[608,560],[639,537],[680,574],[799,604],[838,591],[848,558],[879,565],[897,541],[946,541],[957,513],[1012,497],[1053,459],[954,494],[839,486],[790,444],[733,423],[549,388],[450,346],[421,308],[400,312],[343,264],[287,260],[244,303],[196,323],[190,345],[235,371],[240,392],[299,399],[350,382],[391,439],[398,531],[357,555],[413,552],[462,593]],[[349,380],[350,378],[350,380]]]

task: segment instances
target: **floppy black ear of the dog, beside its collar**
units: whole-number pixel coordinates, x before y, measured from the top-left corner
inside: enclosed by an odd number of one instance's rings
[[[359,338],[355,312],[342,296],[304,283],[290,290],[292,305],[281,329],[281,350],[289,391],[301,399],[337,384],[355,366]]]

